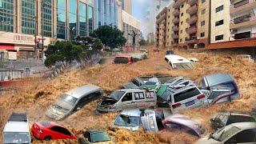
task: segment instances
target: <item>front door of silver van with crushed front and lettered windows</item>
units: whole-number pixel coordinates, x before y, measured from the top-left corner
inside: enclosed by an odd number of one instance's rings
[[[134,102],[133,93],[126,93],[122,99],[121,102],[118,102],[119,107],[121,110],[124,109],[132,109],[136,107],[136,103]]]

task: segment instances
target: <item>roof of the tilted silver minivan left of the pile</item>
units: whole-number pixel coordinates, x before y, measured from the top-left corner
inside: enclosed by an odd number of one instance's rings
[[[70,90],[68,92],[66,92],[65,94],[68,94],[74,98],[81,98],[83,95],[85,94],[91,94],[94,93],[96,91],[102,90],[100,87],[98,86],[94,86],[94,85],[85,85],[85,86],[79,86],[73,90]]]

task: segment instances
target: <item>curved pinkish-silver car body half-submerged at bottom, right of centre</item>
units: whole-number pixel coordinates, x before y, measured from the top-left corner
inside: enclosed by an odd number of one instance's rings
[[[171,115],[164,120],[164,123],[185,126],[186,128],[193,130],[199,138],[201,138],[202,134],[206,132],[205,128],[203,128],[198,122],[194,122],[191,118],[188,118],[182,114]]]

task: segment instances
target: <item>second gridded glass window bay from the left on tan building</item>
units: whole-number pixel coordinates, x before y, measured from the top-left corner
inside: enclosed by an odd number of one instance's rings
[[[35,1],[22,0],[22,34],[34,34]]]

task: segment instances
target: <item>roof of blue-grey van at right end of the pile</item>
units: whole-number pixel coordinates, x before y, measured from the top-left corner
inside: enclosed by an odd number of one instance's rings
[[[208,86],[214,86],[220,83],[234,81],[230,74],[210,74],[207,75],[205,78],[208,83]]]

